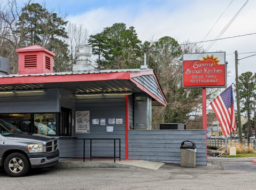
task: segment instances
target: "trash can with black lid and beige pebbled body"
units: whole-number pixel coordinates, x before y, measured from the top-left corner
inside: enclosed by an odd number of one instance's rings
[[[181,167],[196,167],[196,143],[192,140],[185,140],[181,143]]]

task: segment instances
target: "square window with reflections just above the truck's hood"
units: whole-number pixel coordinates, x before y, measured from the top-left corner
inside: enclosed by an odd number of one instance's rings
[[[34,114],[34,133],[56,135],[57,114]]]

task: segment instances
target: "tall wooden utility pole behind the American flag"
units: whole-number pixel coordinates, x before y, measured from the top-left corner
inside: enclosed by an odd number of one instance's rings
[[[239,100],[239,89],[238,89],[238,60],[237,51],[235,51],[235,65],[236,65],[236,105],[237,105],[237,117],[238,117],[238,130],[239,130],[239,141],[243,144],[242,126],[241,126],[241,113],[240,113],[240,100]]]

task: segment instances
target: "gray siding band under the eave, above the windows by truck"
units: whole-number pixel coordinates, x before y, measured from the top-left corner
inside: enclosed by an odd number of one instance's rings
[[[0,113],[59,112],[58,90],[1,94]]]

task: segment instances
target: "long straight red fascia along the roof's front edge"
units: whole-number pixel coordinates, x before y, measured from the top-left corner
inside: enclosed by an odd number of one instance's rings
[[[107,81],[107,80],[129,80],[127,73],[93,73],[93,74],[71,74],[71,75],[48,75],[48,76],[20,76],[2,77],[1,84],[33,84],[54,82],[81,82],[81,81]]]

